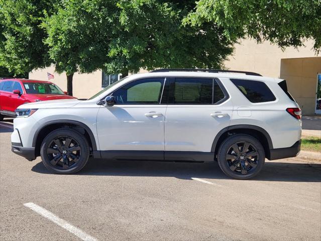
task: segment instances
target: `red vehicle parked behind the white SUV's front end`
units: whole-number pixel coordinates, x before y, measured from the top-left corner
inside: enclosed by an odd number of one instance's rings
[[[3,79],[0,80],[0,121],[5,116],[15,117],[16,108],[24,103],[74,98],[50,81]]]

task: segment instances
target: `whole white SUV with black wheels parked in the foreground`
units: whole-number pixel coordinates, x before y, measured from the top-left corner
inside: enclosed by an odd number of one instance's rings
[[[282,79],[252,72],[160,69],[135,74],[87,100],[28,103],[16,110],[12,151],[55,173],[88,158],[218,161],[248,179],[269,160],[300,151],[301,111]]]

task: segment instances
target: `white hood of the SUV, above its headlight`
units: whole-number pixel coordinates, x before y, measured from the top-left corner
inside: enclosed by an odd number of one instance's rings
[[[40,109],[40,108],[70,108],[81,102],[78,99],[59,99],[31,102],[20,105],[19,109]]]

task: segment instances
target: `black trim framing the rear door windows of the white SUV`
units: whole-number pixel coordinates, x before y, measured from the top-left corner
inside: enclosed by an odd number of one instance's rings
[[[197,79],[212,79],[212,103],[211,104],[191,104],[191,103],[174,103],[174,84],[175,84],[175,79],[176,78],[197,78]],[[218,102],[214,102],[214,82],[217,82],[219,87],[221,88],[224,98],[220,99]],[[213,78],[213,77],[203,77],[203,76],[173,76],[170,78],[170,87],[169,87],[169,98],[168,98],[168,105],[195,105],[195,106],[200,106],[200,105],[219,105],[222,104],[223,102],[227,101],[230,98],[230,95],[228,91],[226,90],[225,86],[222,84],[221,80],[219,78]]]

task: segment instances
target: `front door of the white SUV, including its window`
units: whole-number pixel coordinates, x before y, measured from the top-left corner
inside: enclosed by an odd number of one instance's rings
[[[146,159],[163,160],[165,82],[165,78],[138,79],[110,94],[115,98],[114,106],[102,105],[97,115],[102,157],[135,159],[135,152],[139,151],[140,157],[146,155]],[[115,151],[121,152],[116,155]]]

